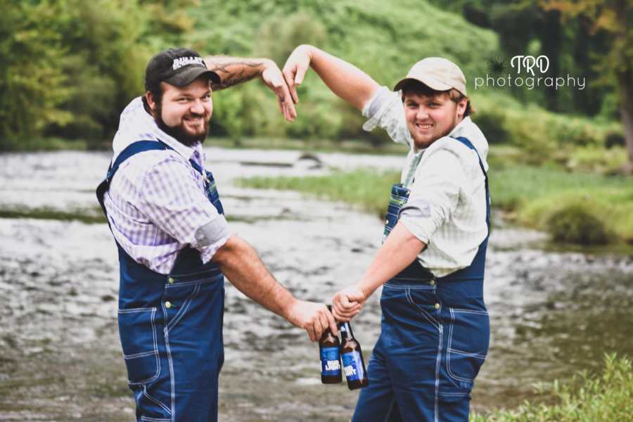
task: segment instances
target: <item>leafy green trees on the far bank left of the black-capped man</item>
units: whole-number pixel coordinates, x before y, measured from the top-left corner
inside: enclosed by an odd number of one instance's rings
[[[163,39],[191,29],[191,19],[173,7],[124,0],[4,2],[0,150],[33,144],[29,139],[41,134],[85,139],[89,146],[110,138],[122,108],[143,92],[151,53],[165,48]],[[160,38],[150,30],[161,30]]]

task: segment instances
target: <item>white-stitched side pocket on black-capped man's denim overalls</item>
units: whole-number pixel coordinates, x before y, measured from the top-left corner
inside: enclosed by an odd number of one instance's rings
[[[148,383],[160,373],[156,311],[155,307],[119,310],[119,335],[130,384]]]

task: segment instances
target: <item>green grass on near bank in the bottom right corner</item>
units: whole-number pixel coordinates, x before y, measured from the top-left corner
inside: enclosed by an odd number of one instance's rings
[[[553,404],[525,402],[517,409],[474,415],[473,422],[627,422],[633,421],[633,368],[627,357],[608,354],[603,372],[580,373],[570,383],[537,385]]]

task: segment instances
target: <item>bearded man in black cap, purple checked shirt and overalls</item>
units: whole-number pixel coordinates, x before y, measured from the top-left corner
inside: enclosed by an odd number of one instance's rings
[[[224,276],[311,340],[326,328],[336,333],[325,305],[294,298],[231,234],[205,170],[212,91],[255,77],[292,121],[293,101],[272,60],[203,60],[188,49],[154,56],[145,95],[121,115],[97,196],[119,250],[119,333],[138,421],[217,421]]]

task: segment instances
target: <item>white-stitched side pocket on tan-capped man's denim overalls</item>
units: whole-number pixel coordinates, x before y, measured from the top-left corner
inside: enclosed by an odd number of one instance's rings
[[[454,381],[472,383],[488,352],[490,317],[485,311],[449,308],[447,373]]]

